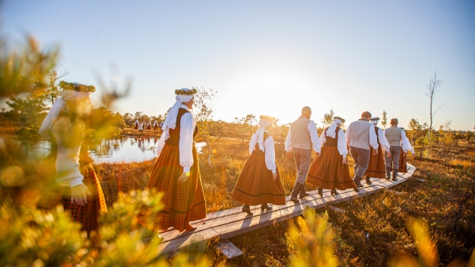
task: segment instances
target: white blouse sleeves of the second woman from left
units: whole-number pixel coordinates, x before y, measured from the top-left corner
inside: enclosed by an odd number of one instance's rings
[[[181,105],[180,108],[189,110],[186,105]],[[189,172],[193,166],[193,133],[196,127],[196,119],[191,112],[186,112],[181,116],[180,121],[180,141],[178,144],[180,154],[180,166],[183,167],[183,172]],[[165,147],[166,133],[161,134],[158,145],[156,145],[156,155],[160,157],[161,150]],[[168,138],[167,138],[168,139]]]

